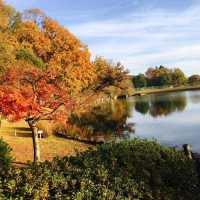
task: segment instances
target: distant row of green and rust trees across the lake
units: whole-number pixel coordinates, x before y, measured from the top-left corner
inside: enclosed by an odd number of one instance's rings
[[[167,68],[164,66],[149,68],[145,74],[133,76],[136,88],[152,86],[181,86],[186,84],[200,84],[200,75],[187,77],[179,68]]]

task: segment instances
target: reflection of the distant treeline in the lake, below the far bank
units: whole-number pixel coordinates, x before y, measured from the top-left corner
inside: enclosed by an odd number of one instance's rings
[[[150,95],[136,99],[135,110],[149,113],[153,117],[167,116],[173,112],[182,112],[187,106],[185,94]]]

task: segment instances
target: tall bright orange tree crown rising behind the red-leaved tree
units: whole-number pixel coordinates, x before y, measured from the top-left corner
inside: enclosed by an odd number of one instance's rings
[[[72,93],[92,85],[96,81],[96,71],[90,62],[87,46],[50,18],[45,19],[43,32],[51,41],[47,60],[49,69],[62,75]]]

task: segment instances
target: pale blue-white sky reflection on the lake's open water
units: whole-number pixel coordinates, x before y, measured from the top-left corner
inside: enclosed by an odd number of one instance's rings
[[[187,106],[184,111],[154,118],[149,113],[143,115],[133,110],[128,122],[136,124],[137,136],[155,138],[172,146],[189,143],[193,150],[200,152],[200,92],[182,92],[177,95],[186,96]]]

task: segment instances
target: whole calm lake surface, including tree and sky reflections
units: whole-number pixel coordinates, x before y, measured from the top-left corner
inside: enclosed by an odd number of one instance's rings
[[[112,100],[72,116],[71,123],[68,132],[87,141],[139,136],[174,147],[192,144],[200,152],[200,91]]]

